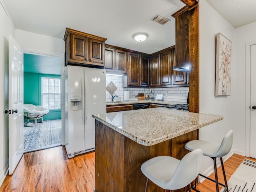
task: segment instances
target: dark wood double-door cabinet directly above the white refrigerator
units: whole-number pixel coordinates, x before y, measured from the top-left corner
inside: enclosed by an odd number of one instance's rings
[[[66,65],[104,66],[106,38],[66,28],[64,41]]]

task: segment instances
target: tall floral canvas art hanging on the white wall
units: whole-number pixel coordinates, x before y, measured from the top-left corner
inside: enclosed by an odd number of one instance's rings
[[[230,95],[232,42],[221,33],[216,40],[215,96]]]

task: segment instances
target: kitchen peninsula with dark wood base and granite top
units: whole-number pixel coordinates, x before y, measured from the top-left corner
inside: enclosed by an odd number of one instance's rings
[[[198,138],[198,129],[223,119],[168,108],[94,114],[95,191],[144,191],[140,166],[154,156],[181,159],[184,144]],[[149,182],[148,192],[161,188]]]

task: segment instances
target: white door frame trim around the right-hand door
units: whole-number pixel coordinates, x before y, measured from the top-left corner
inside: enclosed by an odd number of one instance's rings
[[[245,69],[245,90],[246,90],[246,102],[245,102],[245,156],[250,157],[250,87],[251,87],[251,70],[250,70],[250,46],[256,44],[256,41],[246,43],[246,69]]]

